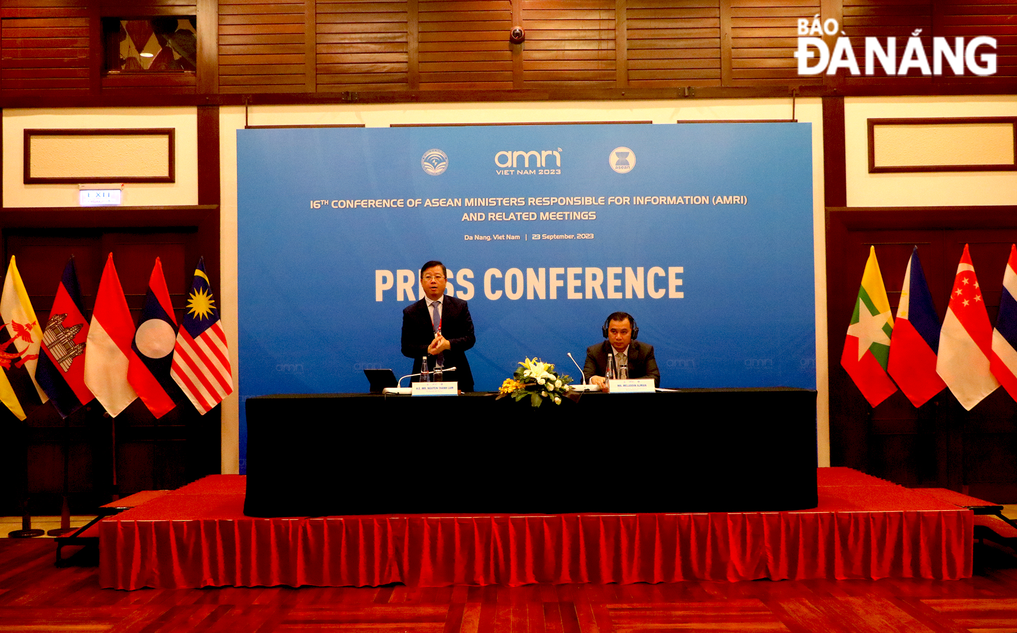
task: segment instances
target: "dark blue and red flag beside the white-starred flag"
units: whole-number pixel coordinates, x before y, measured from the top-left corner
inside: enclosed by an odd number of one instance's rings
[[[936,352],[940,347],[940,320],[933,295],[918,261],[918,247],[904,270],[904,286],[897,305],[897,321],[890,337],[890,376],[916,407],[946,388],[936,372]]]

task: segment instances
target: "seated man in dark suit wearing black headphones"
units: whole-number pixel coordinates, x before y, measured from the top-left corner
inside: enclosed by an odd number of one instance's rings
[[[604,321],[601,332],[607,340],[586,349],[583,373],[591,385],[607,391],[608,368],[614,378],[624,368],[627,378],[652,378],[654,385],[660,387],[660,369],[653,355],[653,345],[636,340],[639,328],[632,314],[614,312]]]

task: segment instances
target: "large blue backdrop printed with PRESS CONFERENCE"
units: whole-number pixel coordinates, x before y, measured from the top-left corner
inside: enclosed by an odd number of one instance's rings
[[[240,396],[410,372],[402,309],[440,260],[476,388],[576,377],[614,310],[664,387],[815,388],[807,123],[238,130]],[[243,407],[241,406],[241,412]],[[246,427],[241,418],[241,456]],[[243,462],[242,462],[243,466]]]

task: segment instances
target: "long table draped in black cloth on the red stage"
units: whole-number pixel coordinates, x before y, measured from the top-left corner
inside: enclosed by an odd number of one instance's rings
[[[254,517],[816,507],[816,392],[248,398]]]

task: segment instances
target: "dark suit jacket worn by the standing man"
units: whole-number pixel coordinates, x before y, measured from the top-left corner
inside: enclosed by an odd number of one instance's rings
[[[441,300],[441,334],[452,344],[444,352],[444,366],[456,367],[456,371],[444,375],[445,380],[459,382],[463,391],[473,391],[473,372],[465,353],[477,342],[473,319],[466,301],[451,294]],[[431,313],[426,300],[420,299],[403,310],[403,355],[413,358],[413,373],[420,371],[420,359],[427,355],[427,346],[433,340]],[[427,357],[427,366],[434,369],[434,356]],[[414,378],[411,382],[416,381]]]

